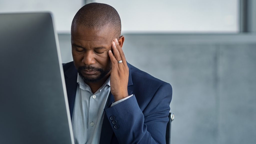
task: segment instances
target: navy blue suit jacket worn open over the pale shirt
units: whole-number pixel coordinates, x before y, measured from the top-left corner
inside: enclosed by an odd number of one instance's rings
[[[128,94],[132,97],[110,107],[110,92],[102,124],[100,144],[161,143],[165,144],[172,86],[127,63]],[[63,64],[70,116],[72,119],[77,90],[77,70],[73,61]],[[112,123],[116,120],[116,124]],[[112,120],[110,119],[112,118]],[[117,125],[117,126],[115,126]],[[115,126],[115,127],[114,127]],[[117,129],[116,129],[117,128]]]

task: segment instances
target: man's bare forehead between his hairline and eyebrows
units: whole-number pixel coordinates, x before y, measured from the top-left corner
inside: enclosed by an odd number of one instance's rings
[[[111,45],[114,40],[111,26],[105,25],[101,28],[86,27],[74,24],[71,29],[71,42],[90,43],[93,45]]]

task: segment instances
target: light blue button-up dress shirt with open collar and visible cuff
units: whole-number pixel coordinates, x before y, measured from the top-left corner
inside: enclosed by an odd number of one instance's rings
[[[77,83],[72,116],[74,141],[76,144],[99,144],[104,108],[110,93],[110,77],[94,94],[79,75],[77,76]],[[131,96],[113,102],[111,107]]]

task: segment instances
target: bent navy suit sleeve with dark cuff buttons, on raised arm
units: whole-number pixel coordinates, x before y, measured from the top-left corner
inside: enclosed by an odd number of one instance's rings
[[[109,122],[118,142],[165,144],[171,99],[172,87],[165,83],[158,88],[143,112],[138,106],[135,95],[115,106],[105,108],[106,115],[109,118],[114,117],[115,121],[109,119]]]

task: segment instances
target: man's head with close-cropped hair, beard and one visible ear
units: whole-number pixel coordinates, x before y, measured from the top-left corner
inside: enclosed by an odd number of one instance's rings
[[[122,46],[121,20],[110,5],[90,3],[74,16],[71,25],[71,45],[74,65],[80,77],[94,83],[110,73],[108,50],[115,38]]]

